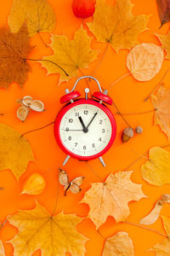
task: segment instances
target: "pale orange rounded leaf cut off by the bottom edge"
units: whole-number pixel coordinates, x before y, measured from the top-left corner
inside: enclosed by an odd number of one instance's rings
[[[133,242],[126,232],[107,238],[102,256],[133,256]]]

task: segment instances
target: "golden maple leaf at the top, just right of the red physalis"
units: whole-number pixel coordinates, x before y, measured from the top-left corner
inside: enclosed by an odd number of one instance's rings
[[[149,16],[132,14],[130,0],[116,0],[113,7],[105,0],[97,0],[94,20],[88,23],[89,29],[99,42],[111,43],[119,49],[130,49],[138,44],[140,32],[146,29]]]

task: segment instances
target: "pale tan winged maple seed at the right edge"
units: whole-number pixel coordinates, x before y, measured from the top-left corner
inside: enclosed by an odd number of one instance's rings
[[[140,219],[140,224],[150,225],[156,222],[157,218],[159,218],[161,208],[163,207],[164,203],[170,203],[170,195],[162,195],[161,199],[156,201],[155,207],[152,211],[144,218]]]

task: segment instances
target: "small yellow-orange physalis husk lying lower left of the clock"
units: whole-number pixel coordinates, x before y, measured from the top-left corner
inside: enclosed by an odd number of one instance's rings
[[[23,186],[21,194],[39,195],[45,189],[46,182],[42,175],[39,173],[33,173]]]

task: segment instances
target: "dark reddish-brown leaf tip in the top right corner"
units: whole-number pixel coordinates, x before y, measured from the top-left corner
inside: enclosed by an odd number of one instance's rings
[[[161,26],[170,21],[170,2],[169,0],[156,0]]]

